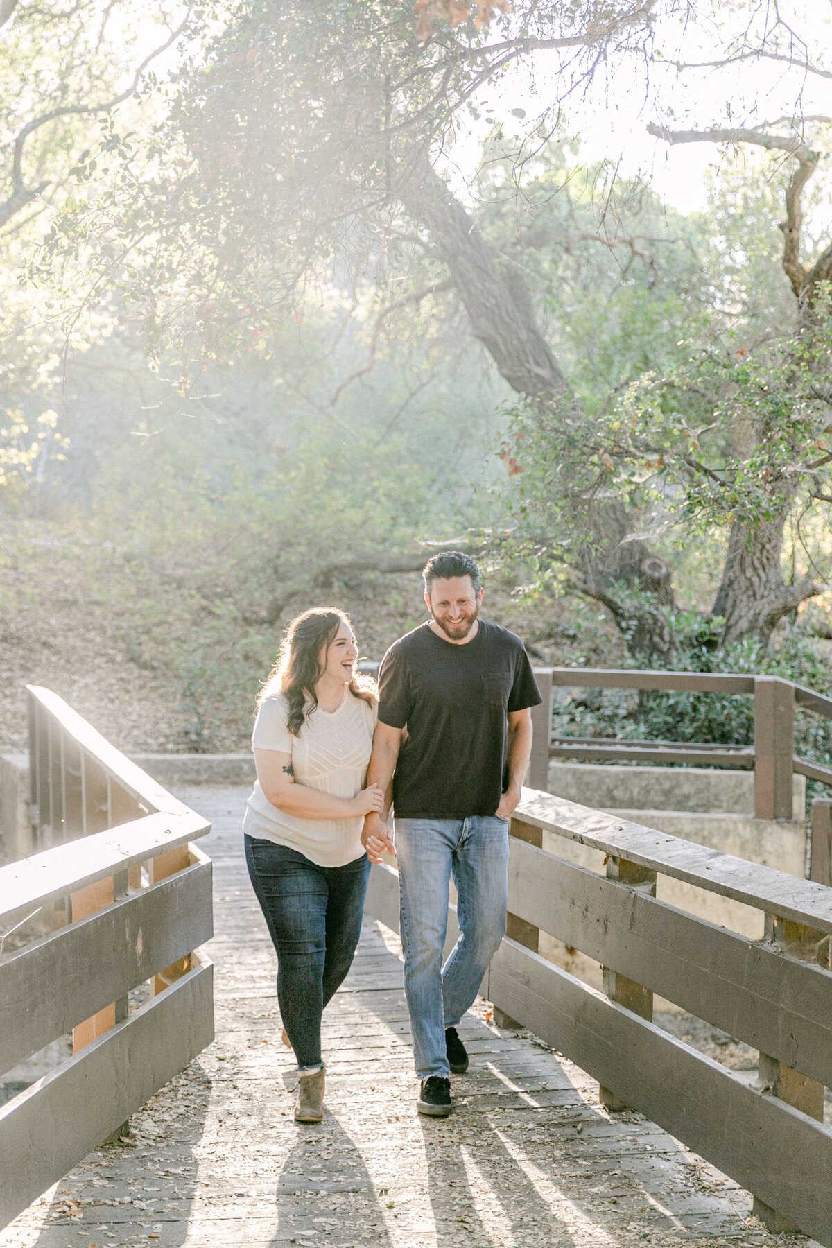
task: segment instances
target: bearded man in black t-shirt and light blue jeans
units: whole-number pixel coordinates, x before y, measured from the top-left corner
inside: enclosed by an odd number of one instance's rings
[[[430,619],[384,655],[367,776],[388,794],[393,782],[395,847],[387,810],[365,817],[362,841],[373,862],[385,849],[398,856],[418,1109],[444,1118],[450,1072],[468,1070],[457,1025],[505,935],[508,820],[540,694],[520,639],[479,619],[474,560],[437,554],[423,577]],[[443,967],[452,876],[460,935]]]

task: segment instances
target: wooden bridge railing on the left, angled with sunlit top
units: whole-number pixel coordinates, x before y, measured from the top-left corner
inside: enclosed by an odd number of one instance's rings
[[[0,1075],[72,1057],[0,1107],[0,1226],[213,1040],[210,825],[47,689],[29,688],[36,844],[0,867]],[[11,943],[11,942],[9,942]],[[148,983],[133,1008],[128,993]]]

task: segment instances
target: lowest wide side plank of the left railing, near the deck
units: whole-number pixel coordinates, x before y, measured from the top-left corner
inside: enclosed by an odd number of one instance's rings
[[[203,962],[0,1107],[0,1226],[211,1043],[211,986],[212,966]]]

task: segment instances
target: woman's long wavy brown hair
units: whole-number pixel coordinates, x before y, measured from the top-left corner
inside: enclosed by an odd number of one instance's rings
[[[329,649],[342,624],[352,628],[349,617],[337,607],[313,607],[297,615],[283,635],[277,663],[257,696],[257,705],[263,698],[283,694],[289,706],[288,729],[293,736],[298,735],[303,723],[318,705],[314,686],[323,675],[321,651],[324,646],[326,650]],[[363,701],[378,701],[378,689],[372,676],[354,675],[349,681],[349,691]]]

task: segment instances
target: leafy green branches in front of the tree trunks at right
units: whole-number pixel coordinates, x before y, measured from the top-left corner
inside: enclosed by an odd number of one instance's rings
[[[503,456],[518,548],[541,567],[580,567],[605,500],[640,514],[670,549],[797,513],[812,534],[832,479],[831,358],[832,316],[820,292],[805,333],[772,336],[751,353],[735,334],[689,348],[676,367],[641,372],[594,421],[565,401],[543,413],[516,406]],[[831,554],[813,540],[803,560],[823,567]]]

